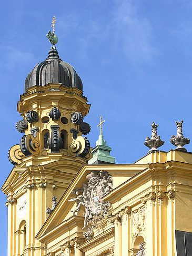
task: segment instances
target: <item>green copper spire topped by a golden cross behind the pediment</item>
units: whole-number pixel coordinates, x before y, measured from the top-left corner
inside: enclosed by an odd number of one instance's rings
[[[105,120],[104,120],[105,121]],[[103,121],[103,122],[104,122]],[[100,135],[98,141],[96,141],[96,147],[92,150],[93,157],[88,161],[88,164],[114,164],[115,157],[110,156],[110,151],[112,148],[107,146],[106,141],[104,141],[104,136],[102,134],[102,116],[100,117]]]

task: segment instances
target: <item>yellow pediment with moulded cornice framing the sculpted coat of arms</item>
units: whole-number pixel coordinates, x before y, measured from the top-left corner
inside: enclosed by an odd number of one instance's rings
[[[73,194],[72,191],[76,190],[77,188],[82,188],[83,184],[87,184],[88,180],[86,177],[91,172],[108,172],[109,175],[113,176],[114,183],[117,183],[116,180],[119,180],[119,178],[121,178],[120,182],[123,183],[126,180],[130,179],[130,177],[134,176],[136,173],[144,170],[145,168],[146,165],[141,164],[84,165],[82,169],[79,170],[73,182],[69,185],[68,189],[63,194],[62,198],[57,203],[54,211],[52,212],[52,214],[50,214],[42,229],[36,235],[36,239],[43,243],[47,243],[50,237],[54,237],[50,236],[50,233],[54,232],[54,230],[57,230],[58,235],[61,235],[61,233],[59,232],[63,232],[62,230],[64,230],[65,223],[67,225],[67,222],[72,219],[73,223],[77,222],[78,220],[78,225],[80,225],[80,228],[83,228],[85,208],[82,207],[82,210],[75,212],[76,216],[74,216],[73,210],[76,208],[77,204],[75,200],[73,201],[70,199],[73,197],[77,197],[77,195]],[[81,221],[79,222],[79,220]]]

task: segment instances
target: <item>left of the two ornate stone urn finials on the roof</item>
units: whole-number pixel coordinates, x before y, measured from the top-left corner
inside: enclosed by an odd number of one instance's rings
[[[158,127],[158,124],[155,124],[155,122],[153,122],[153,124],[151,124],[151,131],[152,131],[151,138],[149,139],[149,137],[146,137],[145,139],[144,145],[148,146],[149,149],[151,149],[148,152],[151,152],[154,150],[158,151],[157,147],[162,146],[165,143],[165,141],[161,141],[160,136],[157,135],[157,127]]]

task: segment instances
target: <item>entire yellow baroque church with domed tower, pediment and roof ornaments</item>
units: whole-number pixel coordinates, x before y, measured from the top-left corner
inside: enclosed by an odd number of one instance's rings
[[[9,150],[14,168],[2,186],[7,255],[189,255],[192,155],[183,147],[183,121],[171,138],[175,150],[158,150],[164,142],[153,123],[148,154],[115,164],[102,129],[90,147],[89,107],[80,77],[52,46],[17,104],[24,135]]]

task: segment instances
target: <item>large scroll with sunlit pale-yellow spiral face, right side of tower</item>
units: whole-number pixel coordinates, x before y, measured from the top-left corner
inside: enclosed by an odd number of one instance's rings
[[[76,140],[72,141],[70,150],[80,157],[85,157],[90,150],[90,142],[86,137],[78,136]]]

